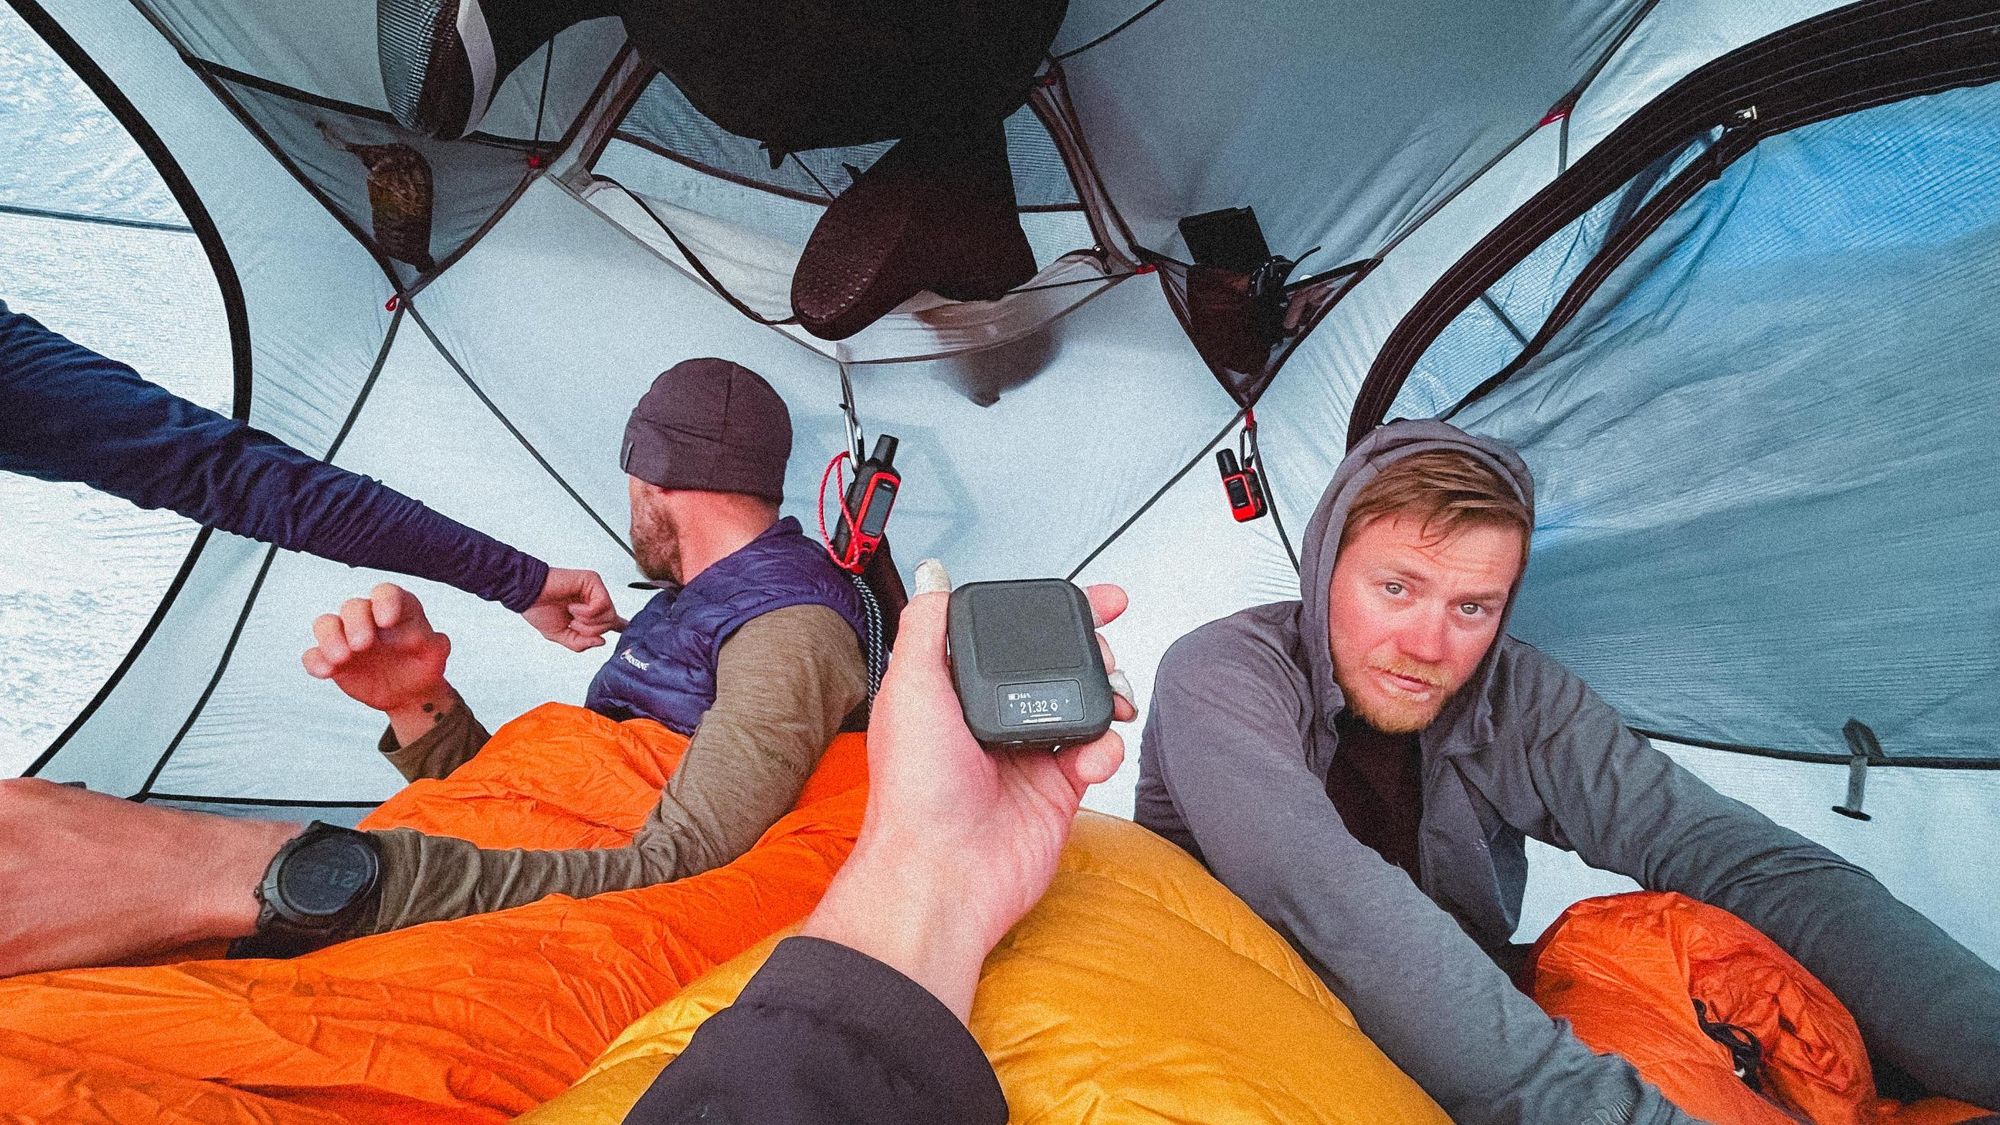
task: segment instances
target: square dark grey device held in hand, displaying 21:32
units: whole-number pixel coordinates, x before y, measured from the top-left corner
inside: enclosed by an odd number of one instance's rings
[[[1062,579],[972,583],[946,611],[952,687],[988,751],[1052,751],[1112,725],[1084,591]]]

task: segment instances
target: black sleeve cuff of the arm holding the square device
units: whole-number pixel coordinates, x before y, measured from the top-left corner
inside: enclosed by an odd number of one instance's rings
[[[626,1123],[1006,1117],[1000,1079],[938,997],[846,945],[788,937],[660,1071]]]

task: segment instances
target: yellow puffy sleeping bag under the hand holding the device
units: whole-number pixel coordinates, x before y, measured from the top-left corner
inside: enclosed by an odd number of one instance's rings
[[[640,1017],[520,1121],[622,1121],[776,943]],[[1450,1121],[1202,865],[1098,813],[1078,817],[1048,895],[986,959],[972,1035],[1014,1121]]]

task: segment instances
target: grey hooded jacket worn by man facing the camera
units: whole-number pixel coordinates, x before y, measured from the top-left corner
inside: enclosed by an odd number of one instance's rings
[[[1208,623],[1160,663],[1138,823],[1200,857],[1306,957],[1454,1121],[1688,1121],[1490,959],[1520,921],[1524,839],[1712,903],[1770,935],[1934,1093],[2000,1109],[2000,973],[1860,867],[1722,797],[1626,729],[1580,679],[1502,635],[1420,735],[1420,881],[1326,797],[1338,753],[1328,583],[1348,506],[1384,464],[1454,448],[1532,508],[1510,448],[1434,420],[1374,430],[1304,536],[1302,601]]]

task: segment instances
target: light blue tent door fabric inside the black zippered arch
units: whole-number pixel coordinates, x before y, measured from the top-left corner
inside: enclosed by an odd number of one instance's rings
[[[1520,350],[1618,192],[1448,328],[1394,412]],[[1588,254],[1584,254],[1588,256]],[[1560,262],[1562,268],[1548,268]],[[2000,761],[2000,86],[1762,142],[1454,420],[1540,480],[1520,637],[1642,729]]]

